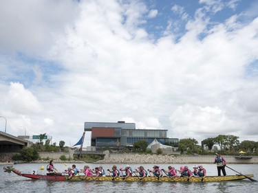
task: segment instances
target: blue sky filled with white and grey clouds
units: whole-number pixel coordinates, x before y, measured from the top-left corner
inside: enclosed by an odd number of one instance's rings
[[[0,130],[84,122],[258,141],[258,1],[0,1]],[[89,146],[87,133],[84,146]]]

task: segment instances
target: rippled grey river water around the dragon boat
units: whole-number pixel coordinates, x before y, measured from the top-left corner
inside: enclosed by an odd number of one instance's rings
[[[96,163],[77,163],[76,168],[82,169],[83,166],[89,165],[90,168],[95,168]],[[189,165],[192,168],[194,164]],[[196,164],[197,165],[197,164]],[[8,165],[0,165],[3,166]],[[23,173],[32,173],[33,170],[36,172],[44,172],[40,170],[41,166],[47,167],[47,164],[43,163],[23,163],[14,165],[14,168],[20,170]],[[67,169],[63,163],[56,163],[54,166],[59,171]],[[72,166],[72,164],[69,164]],[[113,164],[102,164],[106,170]],[[124,168],[125,164],[117,164],[118,168]],[[138,168],[140,164],[131,164],[133,170]],[[145,169],[151,169],[153,165],[144,164]],[[160,168],[167,168],[167,164],[160,164]],[[173,165],[175,168],[180,168],[180,164]],[[208,175],[217,175],[217,168],[215,164],[204,164]],[[230,168],[233,168],[237,172],[243,174],[254,174],[258,181],[258,165],[249,164],[228,164]],[[236,174],[234,171],[226,168],[227,174]],[[14,173],[8,174],[7,172],[0,171],[0,192],[258,192],[258,182],[252,182],[248,179],[241,181],[228,181],[228,182],[200,182],[200,183],[171,183],[171,182],[126,182],[126,181],[43,181],[43,180],[32,180],[25,177],[19,177]]]

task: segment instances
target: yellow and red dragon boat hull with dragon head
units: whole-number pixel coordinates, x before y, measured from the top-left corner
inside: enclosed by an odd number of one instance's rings
[[[124,179],[123,177],[117,177],[116,179],[112,179],[111,176],[106,177],[87,177],[85,176],[75,176],[71,179],[68,179],[67,175],[59,174],[59,175],[43,175],[43,174],[23,174],[20,171],[16,170],[12,166],[3,168],[4,172],[14,172],[22,177],[27,177],[30,179],[39,179],[39,180],[50,180],[50,181],[167,181],[167,182],[201,182],[202,179],[200,177],[192,177],[189,179],[188,177],[146,177],[144,179],[139,179],[139,177],[129,177]],[[246,175],[228,175],[226,177],[217,177],[217,176],[209,176],[203,179],[203,182],[212,182],[212,181],[237,181],[241,179],[250,179],[254,177],[253,174]]]

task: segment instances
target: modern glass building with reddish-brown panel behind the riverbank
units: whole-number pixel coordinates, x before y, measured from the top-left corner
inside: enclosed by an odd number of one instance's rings
[[[168,130],[160,129],[136,129],[135,123],[125,122],[85,122],[85,131],[92,132],[92,146],[96,149],[101,147],[125,148],[133,146],[137,141],[147,141],[148,144],[157,139],[161,144],[169,143],[178,145],[179,139],[168,138]]]

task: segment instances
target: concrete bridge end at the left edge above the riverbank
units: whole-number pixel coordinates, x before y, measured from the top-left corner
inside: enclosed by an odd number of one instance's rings
[[[0,152],[19,152],[21,148],[30,147],[32,144],[32,141],[20,139],[0,131]]]

